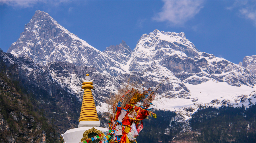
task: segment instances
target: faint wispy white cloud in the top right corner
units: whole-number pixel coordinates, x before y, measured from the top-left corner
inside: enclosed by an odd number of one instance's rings
[[[255,1],[235,1],[228,10],[238,10],[238,16],[256,22],[256,3]]]

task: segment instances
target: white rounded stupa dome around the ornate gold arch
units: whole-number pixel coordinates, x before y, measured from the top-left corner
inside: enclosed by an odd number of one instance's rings
[[[101,127],[94,127],[94,128],[102,131],[102,133],[108,131],[108,128],[101,128]],[[67,130],[64,134],[61,134],[61,136],[63,137],[63,140],[65,143],[79,143],[83,138],[84,132],[89,129],[92,129],[92,127],[80,127],[80,128],[70,129],[70,130]]]

